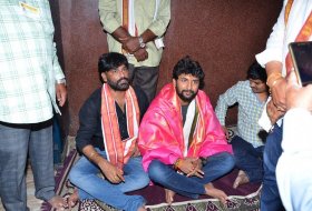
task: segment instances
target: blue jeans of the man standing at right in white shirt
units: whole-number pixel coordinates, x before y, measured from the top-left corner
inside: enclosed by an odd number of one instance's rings
[[[282,154],[282,134],[283,125],[274,125],[274,129],[269,133],[263,153],[263,187],[260,198],[261,211],[282,211],[284,210],[280,192],[276,183],[276,164]]]

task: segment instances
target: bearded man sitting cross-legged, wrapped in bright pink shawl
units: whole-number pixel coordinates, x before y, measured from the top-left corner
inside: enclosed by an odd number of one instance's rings
[[[175,193],[227,199],[212,181],[232,170],[234,158],[208,97],[198,90],[204,76],[197,61],[179,60],[173,82],[152,102],[139,128],[144,169],[165,188],[167,203]]]

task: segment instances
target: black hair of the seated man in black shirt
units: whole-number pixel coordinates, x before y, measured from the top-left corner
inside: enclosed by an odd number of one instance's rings
[[[98,60],[98,72],[101,74],[103,72],[115,70],[123,64],[125,64],[127,69],[129,68],[128,60],[124,54],[118,52],[104,53]]]

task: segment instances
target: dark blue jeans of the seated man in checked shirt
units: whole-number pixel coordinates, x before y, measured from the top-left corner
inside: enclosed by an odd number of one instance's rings
[[[231,144],[236,167],[247,174],[251,182],[262,182],[264,145],[254,148],[238,135],[232,139]]]

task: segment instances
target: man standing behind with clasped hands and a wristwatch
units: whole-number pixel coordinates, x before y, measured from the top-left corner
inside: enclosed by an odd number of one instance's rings
[[[129,61],[133,86],[150,102],[156,93],[163,36],[170,20],[170,0],[99,0],[99,16],[110,52]]]

